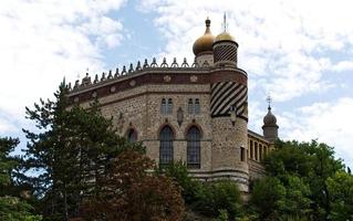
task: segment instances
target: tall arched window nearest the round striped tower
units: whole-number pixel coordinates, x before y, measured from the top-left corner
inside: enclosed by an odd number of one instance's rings
[[[200,130],[193,126],[187,131],[187,166],[200,168]]]

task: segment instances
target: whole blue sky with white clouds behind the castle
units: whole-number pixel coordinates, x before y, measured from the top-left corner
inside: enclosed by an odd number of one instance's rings
[[[74,82],[138,60],[193,61],[211,19],[239,43],[249,75],[249,128],[261,133],[273,98],[280,136],[319,139],[353,167],[351,0],[1,0],[0,136],[25,139],[24,107]]]

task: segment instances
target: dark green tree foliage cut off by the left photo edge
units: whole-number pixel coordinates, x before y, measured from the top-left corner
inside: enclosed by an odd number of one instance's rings
[[[19,158],[10,156],[19,139],[0,137],[0,220],[41,220],[32,215],[33,208],[20,197],[21,189],[15,186],[13,170],[20,164]]]

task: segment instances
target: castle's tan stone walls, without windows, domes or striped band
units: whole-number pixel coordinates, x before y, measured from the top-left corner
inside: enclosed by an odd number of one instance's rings
[[[190,173],[203,180],[232,179],[240,185],[241,191],[248,191],[249,178],[260,177],[258,175],[263,172],[259,151],[269,150],[268,143],[261,136],[249,135],[245,118],[237,118],[235,125],[229,116],[211,118],[211,90],[210,83],[207,83],[207,78],[210,78],[215,82],[235,81],[243,84],[246,78],[239,72],[233,74],[230,70],[222,72],[222,76],[217,75],[216,72],[207,74],[205,70],[200,73],[194,72],[186,75],[183,72],[181,74],[169,72],[150,75],[156,83],[143,74],[135,76],[135,78],[123,76],[126,80],[122,80],[121,83],[113,81],[106,85],[97,85],[92,90],[85,87],[82,92],[74,92],[71,99],[89,107],[89,101],[93,101],[93,97],[97,96],[103,115],[113,117],[118,134],[126,136],[131,128],[137,131],[137,140],[146,146],[147,156],[154,159],[157,165],[159,162],[158,136],[163,126],[168,125],[173,128],[174,160],[183,161],[186,161],[187,158],[187,130],[190,126],[197,126],[201,130],[200,168],[190,169]],[[144,83],[143,80],[147,83]],[[115,91],[115,87],[120,90]],[[75,97],[80,97],[80,99],[75,101]],[[160,113],[163,98],[172,98],[172,114]],[[199,99],[199,114],[188,113],[189,98]],[[177,122],[178,108],[184,112],[180,125]],[[259,144],[261,143],[261,147],[263,146],[263,148],[257,149],[257,159],[255,159],[253,154],[255,147],[249,145],[250,140],[257,140]],[[250,155],[251,148],[252,155]],[[242,155],[243,157],[241,157]]]

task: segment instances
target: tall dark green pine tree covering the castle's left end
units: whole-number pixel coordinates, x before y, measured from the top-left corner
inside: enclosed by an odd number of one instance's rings
[[[105,171],[108,159],[126,147],[142,149],[116,135],[112,120],[102,116],[97,102],[90,108],[70,106],[65,82],[55,101],[40,101],[27,117],[38,130],[23,129],[29,139],[25,169],[38,171],[27,177],[42,198],[44,217],[68,220],[74,217],[84,197],[92,194],[95,180]]]

